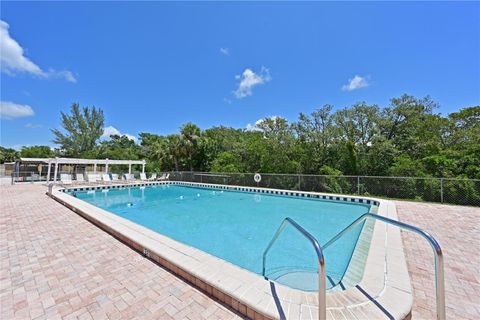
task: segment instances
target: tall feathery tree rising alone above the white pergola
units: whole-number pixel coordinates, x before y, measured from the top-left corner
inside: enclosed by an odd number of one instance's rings
[[[53,129],[53,142],[66,156],[81,157],[95,148],[103,134],[103,111],[95,107],[80,108],[78,103],[74,103],[70,113],[61,113],[64,131]]]

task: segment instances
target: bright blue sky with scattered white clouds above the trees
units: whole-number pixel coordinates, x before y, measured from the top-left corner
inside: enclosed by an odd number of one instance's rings
[[[403,93],[443,114],[480,104],[478,2],[1,2],[0,17],[2,146],[52,145],[73,102],[132,136]]]

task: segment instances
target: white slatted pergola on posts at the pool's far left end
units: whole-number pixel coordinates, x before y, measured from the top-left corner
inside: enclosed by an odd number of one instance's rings
[[[145,173],[145,160],[110,160],[110,159],[75,159],[75,158],[20,158],[22,162],[37,162],[37,163],[47,163],[48,164],[48,173],[47,173],[47,182],[50,181],[50,173],[52,169],[52,164],[55,164],[53,181],[57,181],[58,175],[58,166],[61,164],[77,164],[77,165],[93,165],[94,173],[97,173],[97,165],[105,166],[105,173],[108,172],[108,166],[113,164],[124,164],[128,165],[128,173],[132,173],[133,164],[142,165],[142,173]]]

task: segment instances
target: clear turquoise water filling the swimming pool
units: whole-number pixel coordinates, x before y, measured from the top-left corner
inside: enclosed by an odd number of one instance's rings
[[[341,201],[176,185],[76,192],[76,197],[257,274],[262,273],[263,251],[284,218],[294,219],[323,245],[370,209]],[[361,228],[324,252],[330,286],[344,275]],[[267,275],[315,290],[316,261],[308,240],[287,226],[269,253]]]

